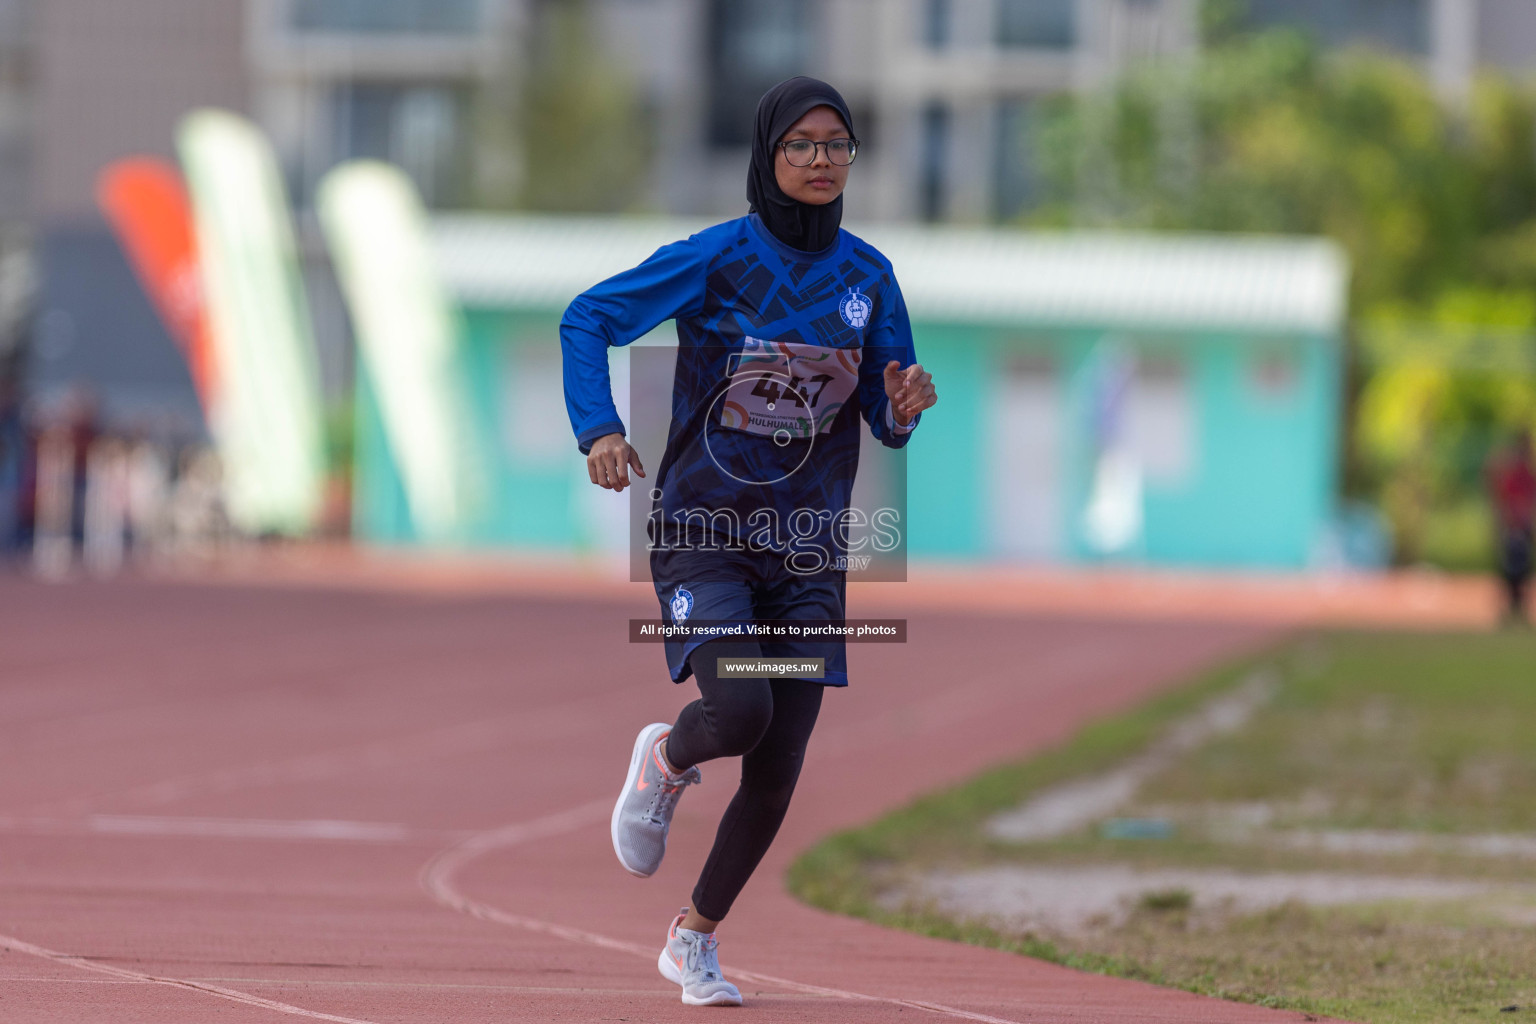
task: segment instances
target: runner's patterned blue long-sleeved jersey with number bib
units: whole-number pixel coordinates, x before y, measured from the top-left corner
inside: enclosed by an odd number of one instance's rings
[[[859,419],[900,448],[883,370],[915,362],[891,263],[849,232],[790,249],[748,215],[664,246],[579,295],[561,319],[565,405],[585,453],[624,424],[608,345],[677,322],[653,548],[842,550]],[[657,537],[657,528],[662,536]],[[814,557],[794,571],[816,571]]]

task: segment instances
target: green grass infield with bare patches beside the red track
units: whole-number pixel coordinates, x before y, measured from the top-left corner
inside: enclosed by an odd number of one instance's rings
[[[1279,808],[1278,827],[1536,832],[1536,637],[1346,633],[1207,672],[1058,749],[833,835],[791,866],[788,884],[811,904],[883,924],[1264,1006],[1369,1024],[1536,1019],[1536,929],[1487,907],[1287,904],[1221,917],[1195,915],[1192,894],[1167,890],[1147,894],[1120,926],[1048,935],[892,898],[905,878],[935,867],[1041,861],[1536,877],[1530,861],[1319,854],[1183,826],[1170,840],[1087,829],[1028,846],[983,832],[1032,792],[1118,765],[1258,665],[1279,674],[1273,702],[1149,780],[1138,808],[1261,801]]]

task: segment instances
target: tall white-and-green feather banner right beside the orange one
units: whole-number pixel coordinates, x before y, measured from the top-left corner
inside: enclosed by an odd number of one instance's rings
[[[229,514],[246,533],[303,534],[324,474],[319,372],[276,161],[224,111],[189,114],[177,144],[224,384],[212,428]]]

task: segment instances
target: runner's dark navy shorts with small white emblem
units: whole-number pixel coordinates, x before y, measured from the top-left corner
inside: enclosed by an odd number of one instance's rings
[[[662,570],[662,571],[657,571]],[[753,625],[759,620],[842,623],[845,573],[797,576],[783,567],[782,554],[750,551],[668,551],[653,559],[651,571],[662,619],[668,623],[711,622]],[[711,637],[667,640],[667,668],[674,683],[693,674],[688,659]],[[733,639],[751,639],[733,637]],[[811,682],[848,685],[848,654],[843,639],[762,639],[763,657],[823,659],[825,676]]]

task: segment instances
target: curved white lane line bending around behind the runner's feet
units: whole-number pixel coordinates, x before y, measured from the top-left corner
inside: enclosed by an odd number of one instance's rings
[[[527,932],[538,932],[541,935],[553,935],[556,938],[564,938],[571,943],[581,943],[582,946],[596,946],[599,949],[611,949],[617,953],[630,953],[633,956],[644,956],[647,961],[656,960],[654,946],[639,946],[636,943],[627,943],[624,940],[610,938],[607,935],[599,935],[598,932],[588,932],[585,929],[570,927],[567,924],[556,924],[553,921],[541,921],[538,918],[530,918],[522,913],[510,913],[501,910],[485,903],[470,900],[453,884],[453,875],[458,874],[472,860],[488,854],[492,851],[505,849],[508,846],[518,846],[521,843],[528,843],[531,840],[548,838],[551,835],[561,835],[564,832],[574,832],[576,829],[587,827],[598,821],[608,820],[613,812],[611,800],[593,800],[584,803],[579,808],[571,808],[570,811],[561,811],[558,814],[545,815],[542,818],[535,818],[531,821],[519,821],[516,824],[508,824],[507,827],[496,829],[493,832],[482,832],[473,835],[461,843],[456,843],[445,851],[439,852],[430,861],[427,861],[419,874],[421,887],[427,894],[445,907],[452,907],[461,913],[468,913],[481,921],[492,921],[495,924],[505,924],[508,927],[524,929]],[[828,989],[823,986],[813,986],[803,981],[791,981],[790,978],[777,978],[774,975],[763,975],[754,970],[731,969],[731,973],[743,981],[754,981],[757,984],[774,986],[788,989],[791,992],[800,992],[806,995],[819,995],[833,999],[854,999],[860,1003],[885,1003],[897,1007],[909,1007],[917,1010],[929,1010],[932,1013],[942,1013],[945,1016],[958,1018],[963,1021],[980,1021],[982,1024],[1021,1024],[1011,1018],[1003,1016],[988,1016],[986,1013],[974,1013],[971,1010],[962,1010],[954,1006],[945,1006],[943,1003],[929,1003],[926,999],[903,999],[899,996],[880,996],[866,995],[863,992],[849,992],[846,989]]]

